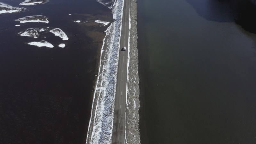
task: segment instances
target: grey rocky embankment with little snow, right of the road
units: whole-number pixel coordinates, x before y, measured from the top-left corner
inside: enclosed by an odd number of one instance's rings
[[[131,0],[130,5],[130,61],[128,73],[128,92],[126,107],[126,144],[140,143],[139,132],[139,75],[138,75],[138,49],[137,49],[137,0]]]

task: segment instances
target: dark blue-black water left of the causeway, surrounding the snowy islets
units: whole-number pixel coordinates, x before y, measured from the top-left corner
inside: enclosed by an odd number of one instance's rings
[[[19,6],[20,0],[1,2],[29,11],[0,15],[0,143],[85,143],[107,28],[93,25],[93,20],[111,20],[111,11],[96,0],[50,0],[31,6]],[[44,15],[49,24],[14,21],[30,15]],[[18,35],[27,28],[46,27],[62,29],[68,41],[49,32],[38,39]],[[26,44],[40,40],[54,48]],[[66,47],[59,48],[60,43]]]

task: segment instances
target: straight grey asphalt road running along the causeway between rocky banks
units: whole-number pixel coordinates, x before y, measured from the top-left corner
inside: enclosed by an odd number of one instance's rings
[[[130,0],[124,0],[120,52],[117,69],[116,102],[114,112],[112,144],[124,144],[128,51],[124,51],[123,47],[126,46],[126,49],[128,48],[129,16]]]

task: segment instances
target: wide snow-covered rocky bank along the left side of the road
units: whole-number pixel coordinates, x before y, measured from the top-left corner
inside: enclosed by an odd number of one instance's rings
[[[116,21],[108,27],[103,40],[87,144],[111,143],[123,4],[123,0],[116,0],[113,5],[112,13]]]

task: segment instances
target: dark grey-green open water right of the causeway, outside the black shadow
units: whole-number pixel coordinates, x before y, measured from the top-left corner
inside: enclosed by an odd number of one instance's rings
[[[142,144],[256,143],[256,35],[245,22],[256,13],[243,17],[248,7],[138,0]]]

